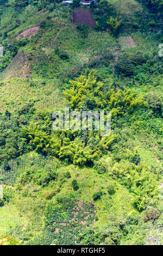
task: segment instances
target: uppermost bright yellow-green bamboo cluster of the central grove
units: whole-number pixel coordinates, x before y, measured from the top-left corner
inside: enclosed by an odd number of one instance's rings
[[[146,106],[146,102],[141,94],[135,93],[134,89],[119,89],[115,92],[110,89],[104,94],[102,92],[103,83],[97,82],[95,78],[96,70],[92,70],[88,75],[80,76],[75,81],[70,81],[70,89],[65,90],[66,99],[70,101],[73,109],[83,106],[87,97],[95,99],[98,108],[110,110],[112,115],[124,114],[122,109],[135,108],[136,106]]]

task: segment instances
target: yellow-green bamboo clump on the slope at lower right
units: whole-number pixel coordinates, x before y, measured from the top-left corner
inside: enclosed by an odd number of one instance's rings
[[[149,168],[142,163],[116,163],[111,173],[122,179],[130,191],[135,194],[134,206],[139,211],[146,209],[148,204],[158,202],[158,181],[156,175],[149,173]]]

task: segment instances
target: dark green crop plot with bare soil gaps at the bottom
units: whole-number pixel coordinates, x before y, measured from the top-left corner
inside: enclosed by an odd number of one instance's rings
[[[75,241],[78,244],[81,232],[89,228],[91,230],[94,217],[95,208],[89,202],[64,199],[57,205],[48,204],[45,212],[46,228],[42,230],[44,238],[41,235],[30,241],[30,244],[74,245]]]

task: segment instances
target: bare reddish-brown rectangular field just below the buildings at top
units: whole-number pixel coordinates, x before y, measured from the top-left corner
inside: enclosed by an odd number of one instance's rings
[[[91,28],[96,27],[96,23],[91,13],[91,10],[84,8],[75,8],[73,10],[73,24],[84,24],[90,26]]]

